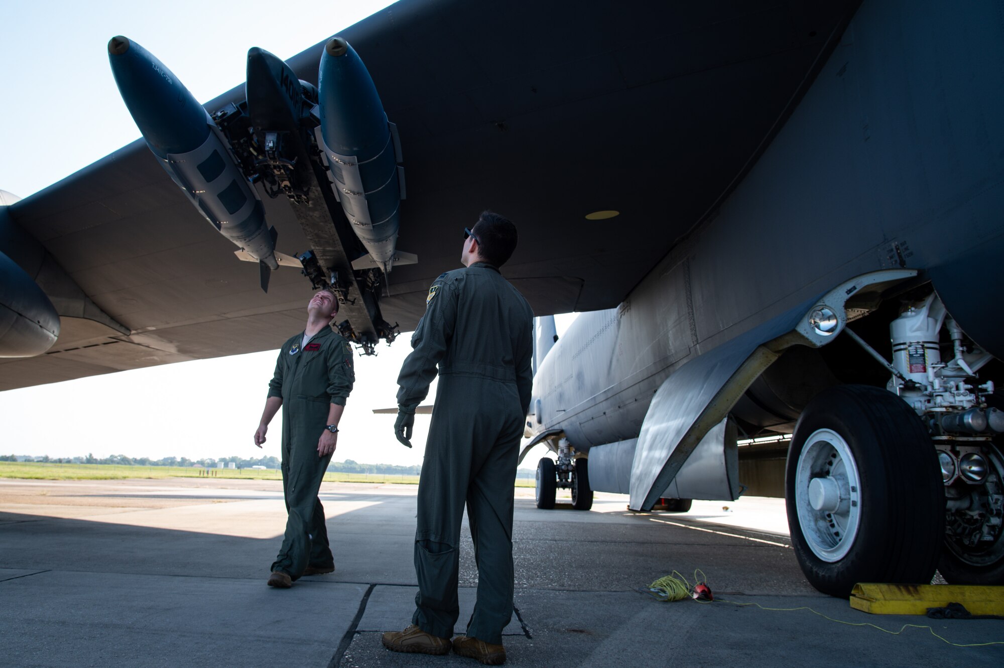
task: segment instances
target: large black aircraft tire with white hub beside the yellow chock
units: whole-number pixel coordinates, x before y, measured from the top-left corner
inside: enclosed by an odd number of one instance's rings
[[[859,582],[930,583],[945,531],[940,470],[903,399],[866,385],[820,392],[785,471],[791,547],[809,584],[847,598]]]

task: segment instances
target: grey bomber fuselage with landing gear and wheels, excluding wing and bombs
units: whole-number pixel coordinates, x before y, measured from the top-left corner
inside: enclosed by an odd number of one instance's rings
[[[863,3],[616,308],[560,340],[537,319],[538,508],[783,496],[822,592],[1004,584],[1004,35],[981,11]]]

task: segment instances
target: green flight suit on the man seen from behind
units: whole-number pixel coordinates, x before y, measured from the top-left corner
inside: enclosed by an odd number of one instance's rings
[[[439,365],[419,481],[412,623],[453,635],[466,502],[478,566],[467,635],[500,644],[512,617],[513,487],[533,385],[533,311],[498,269],[475,263],[436,279],[412,347],[398,403],[421,402]]]

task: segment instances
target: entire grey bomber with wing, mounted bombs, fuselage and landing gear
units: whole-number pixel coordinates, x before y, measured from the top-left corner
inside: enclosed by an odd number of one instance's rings
[[[493,209],[541,509],[784,496],[823,592],[1004,582],[994,4],[402,0],[204,106],[107,48],[144,138],[0,207],[0,389],[273,349],[322,286],[371,351]]]

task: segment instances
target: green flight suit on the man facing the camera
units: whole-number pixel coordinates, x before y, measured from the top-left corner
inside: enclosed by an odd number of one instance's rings
[[[317,439],[327,424],[329,404],[345,405],[352,391],[352,347],[325,327],[303,345],[303,332],[279,351],[268,396],[282,397],[282,491],[286,534],[272,571],[296,580],[307,566],[328,569],[334,557],[317,497],[331,455],[317,456]]]

